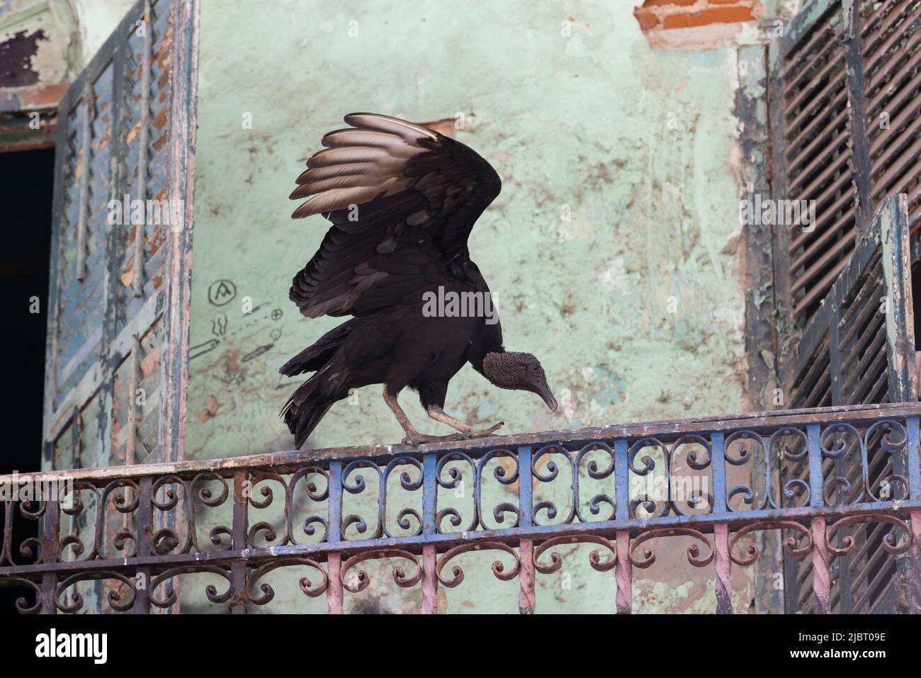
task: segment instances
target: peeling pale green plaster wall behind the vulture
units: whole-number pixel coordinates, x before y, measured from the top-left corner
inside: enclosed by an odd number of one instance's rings
[[[632,8],[285,0],[256,11],[203,0],[188,458],[292,445],[278,411],[299,381],[277,369],[339,321],[303,319],[287,299],[327,228],[320,216],[289,219],[287,194],[321,135],[351,111],[417,122],[463,113],[457,138],[503,180],[473,230],[472,258],[497,296],[507,348],[540,357],[565,406],[551,415],[465,368],[449,413],[476,425],[501,418],[516,433],[742,409],[737,51],[652,52]],[[414,394],[402,403],[440,432]],[[401,438],[375,386],[333,407],[309,445]],[[643,609],[714,598],[712,582],[690,583],[699,576],[685,547],[663,546],[652,570],[636,572],[637,590],[652,595]],[[613,610],[612,573],[590,570],[588,551],[572,561],[571,589],[539,579],[539,609]],[[485,558],[461,587],[441,589],[449,612],[517,609],[517,585],[495,580]],[[663,579],[693,591],[657,598]],[[418,599],[394,589],[380,584],[381,609]],[[325,608],[296,581],[276,590],[297,609]],[[366,593],[346,594],[347,605],[371,604]]]

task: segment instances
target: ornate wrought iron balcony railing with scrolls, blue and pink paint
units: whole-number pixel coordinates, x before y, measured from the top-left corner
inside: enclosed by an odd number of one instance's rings
[[[650,541],[684,537],[688,561],[715,579],[716,612],[729,613],[733,567],[768,557],[752,536],[779,532],[787,556],[811,559],[814,609],[828,613],[830,560],[855,545],[844,528],[875,522],[899,557],[901,609],[917,613],[919,416],[917,403],[864,405],[82,469],[53,474],[65,481],[54,500],[10,494],[51,473],[2,476],[0,585],[27,590],[23,613],[86,611],[90,596],[102,611],[145,614],[177,603],[176,578],[210,573],[225,583],[207,599],[239,613],[273,600],[270,572],[307,567],[299,589],[339,613],[368,585],[358,566],[391,558],[395,585],[420,587],[422,612],[435,613],[437,588],[464,579],[456,556],[495,551],[492,572],[518,579],[527,613],[563,545],[589,543],[587,565],[614,572],[616,609],[629,613]],[[878,453],[893,473],[870,483]],[[778,486],[779,465],[799,460],[808,477]],[[862,468],[859,492],[834,474],[841,460]],[[24,521],[37,536],[17,539]]]

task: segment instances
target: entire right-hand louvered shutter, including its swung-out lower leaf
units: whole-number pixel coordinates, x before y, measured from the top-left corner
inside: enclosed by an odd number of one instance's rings
[[[777,369],[788,407],[917,399],[919,23],[918,0],[813,0],[770,47],[772,197],[815,201],[817,217],[806,228],[774,228]],[[879,445],[868,454],[870,484],[901,473],[902,460]],[[790,462],[780,473],[792,481],[805,469]],[[827,485],[826,500],[860,491],[853,450],[826,455],[824,473],[851,483]],[[892,483],[892,491],[903,488]],[[839,532],[860,546],[831,563],[840,611],[894,609],[888,532],[869,523]],[[808,611],[800,583],[809,568],[787,558],[787,612]]]

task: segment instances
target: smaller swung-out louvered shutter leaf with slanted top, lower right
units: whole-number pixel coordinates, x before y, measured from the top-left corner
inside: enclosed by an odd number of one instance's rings
[[[914,317],[904,194],[887,199],[857,249],[838,275],[820,309],[807,323],[802,339],[789,357],[799,380],[793,385],[793,406],[900,403],[917,399]],[[857,501],[864,478],[857,446],[836,459],[823,460],[825,501]],[[879,488],[893,473],[906,476],[904,459],[870,441],[869,486]],[[784,482],[804,478],[804,463],[782,470]],[[833,489],[828,481],[846,478]],[[903,487],[892,484],[898,498]],[[883,523],[862,523],[840,531],[857,543],[851,555],[831,563],[832,603],[844,613],[892,612],[896,564],[882,548],[890,532]],[[840,544],[839,544],[840,545]],[[809,611],[811,595],[799,582],[808,582],[811,565],[787,558],[787,611]]]

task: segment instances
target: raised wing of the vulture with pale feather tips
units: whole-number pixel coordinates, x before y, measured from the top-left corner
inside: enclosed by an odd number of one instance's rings
[[[290,298],[308,318],[363,315],[412,298],[467,257],[473,223],[501,189],[488,162],[442,134],[374,113],[345,116],[297,178],[293,217],[332,228],[295,275]]]

